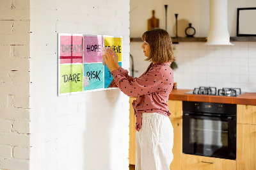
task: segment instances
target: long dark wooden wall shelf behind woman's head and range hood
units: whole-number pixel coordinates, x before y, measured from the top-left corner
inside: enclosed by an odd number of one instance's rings
[[[206,37],[172,37],[173,43],[206,41]],[[130,42],[142,42],[142,40],[141,38],[130,38]],[[256,36],[232,36],[230,42],[256,42]]]

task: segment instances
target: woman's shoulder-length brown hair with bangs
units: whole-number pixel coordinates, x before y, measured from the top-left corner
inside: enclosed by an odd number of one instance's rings
[[[142,40],[150,45],[150,56],[145,61],[166,63],[175,61],[172,39],[164,29],[152,29],[142,35]]]

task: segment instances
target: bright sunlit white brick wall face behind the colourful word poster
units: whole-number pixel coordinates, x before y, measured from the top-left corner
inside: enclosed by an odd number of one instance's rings
[[[123,36],[129,68],[129,10],[129,0],[31,1],[30,169],[129,169],[129,97],[57,95],[57,33]]]

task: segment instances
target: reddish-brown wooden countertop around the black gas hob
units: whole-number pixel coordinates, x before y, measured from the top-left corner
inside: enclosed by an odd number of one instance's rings
[[[243,93],[238,97],[225,97],[215,95],[186,94],[188,91],[193,91],[193,89],[173,89],[169,96],[169,100],[256,105],[256,93]]]

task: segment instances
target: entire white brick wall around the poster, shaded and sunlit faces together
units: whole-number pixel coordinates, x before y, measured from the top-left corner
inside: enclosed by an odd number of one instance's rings
[[[119,35],[129,68],[129,0],[3,0],[0,10],[0,169],[128,169],[129,98],[57,97],[56,52],[57,33]]]

